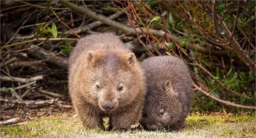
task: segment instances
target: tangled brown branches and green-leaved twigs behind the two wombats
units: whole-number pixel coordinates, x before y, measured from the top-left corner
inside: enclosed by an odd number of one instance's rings
[[[70,108],[69,52],[106,31],[190,65],[194,111],[255,109],[255,1],[1,1],[1,112]]]

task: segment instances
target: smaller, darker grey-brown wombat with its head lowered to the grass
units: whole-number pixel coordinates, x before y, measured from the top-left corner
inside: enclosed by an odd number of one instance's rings
[[[142,67],[147,94],[141,125],[149,130],[183,128],[194,93],[187,65],[174,56],[157,56],[145,59]]]

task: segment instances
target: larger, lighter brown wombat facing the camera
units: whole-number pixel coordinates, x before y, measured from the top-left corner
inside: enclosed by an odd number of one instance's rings
[[[69,58],[69,94],[85,128],[129,129],[139,123],[145,78],[135,54],[111,33],[78,40]]]

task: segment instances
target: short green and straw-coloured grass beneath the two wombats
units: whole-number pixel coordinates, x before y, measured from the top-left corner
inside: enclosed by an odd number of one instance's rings
[[[187,118],[185,129],[177,132],[148,132],[148,131],[103,131],[85,130],[76,117],[71,114],[57,114],[41,117],[28,123],[18,125],[7,125],[0,127],[0,137],[40,137],[40,138],[67,138],[67,137],[234,137],[255,138],[256,118],[255,116],[196,116]]]

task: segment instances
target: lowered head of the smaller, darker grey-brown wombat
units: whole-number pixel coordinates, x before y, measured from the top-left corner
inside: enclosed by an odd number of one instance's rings
[[[150,86],[145,96],[141,125],[149,130],[161,130],[179,120],[182,105],[170,81]]]

